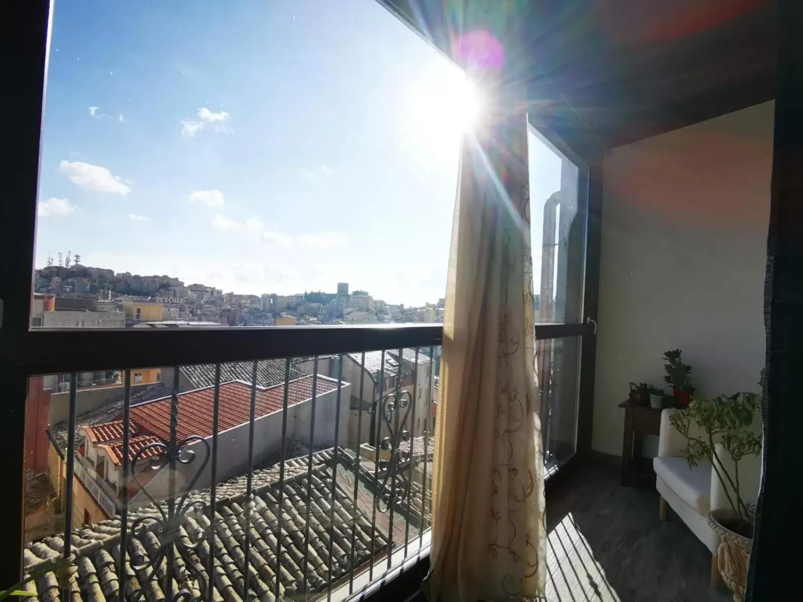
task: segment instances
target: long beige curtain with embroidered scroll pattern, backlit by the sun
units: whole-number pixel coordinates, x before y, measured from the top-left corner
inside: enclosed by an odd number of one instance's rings
[[[433,469],[433,602],[544,596],[527,116],[467,135],[454,209]]]

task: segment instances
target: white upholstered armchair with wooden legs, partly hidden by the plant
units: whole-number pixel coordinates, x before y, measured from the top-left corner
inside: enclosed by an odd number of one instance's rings
[[[711,510],[730,508],[728,497],[710,462],[700,462],[689,468],[681,450],[686,447],[683,437],[673,427],[669,417],[677,410],[665,409],[661,413],[661,430],[658,436],[658,455],[653,459],[655,469],[655,488],[661,494],[660,515],[666,520],[667,506],[675,510],[683,523],[711,551],[711,581],[719,580],[716,568],[716,553],[719,548],[719,535],[708,527],[707,516]],[[690,427],[694,433],[695,425]],[[730,454],[717,444],[717,455],[724,466],[733,474],[733,461]],[[761,478],[759,456],[742,458],[739,462],[740,492],[745,502],[756,502]],[[732,491],[730,487],[729,490]]]

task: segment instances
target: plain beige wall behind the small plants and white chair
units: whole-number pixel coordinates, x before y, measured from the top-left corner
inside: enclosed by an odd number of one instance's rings
[[[756,390],[773,104],[605,159],[593,449],[622,454],[628,382],[663,384],[680,348],[703,395]]]

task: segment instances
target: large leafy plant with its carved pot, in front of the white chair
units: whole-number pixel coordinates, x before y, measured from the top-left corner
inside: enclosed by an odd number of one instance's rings
[[[750,429],[759,399],[758,393],[693,399],[687,408],[670,417],[671,425],[687,439],[683,457],[689,466],[697,466],[703,460],[711,462],[728,498],[730,508],[712,510],[708,514],[708,525],[719,534],[719,572],[733,592],[735,602],[744,600],[755,512],[752,503],[745,502],[741,495],[739,462],[745,456],[757,455],[761,451],[761,437]],[[703,432],[701,436],[690,433],[692,423],[699,425]],[[730,454],[732,470],[720,462],[717,443]]]

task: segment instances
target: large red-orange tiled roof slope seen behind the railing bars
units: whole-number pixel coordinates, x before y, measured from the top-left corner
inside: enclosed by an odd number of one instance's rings
[[[312,399],[313,376],[303,376],[287,384],[287,405]],[[336,380],[318,376],[316,394],[322,395],[337,388]],[[256,417],[277,412],[283,408],[284,384],[256,390]],[[171,398],[165,397],[132,407],[131,421],[141,429],[168,441],[170,437]],[[178,394],[178,441],[190,435],[212,436],[214,387],[201,388]],[[220,385],[220,413],[218,432],[246,424],[251,417],[251,384],[236,380]]]

